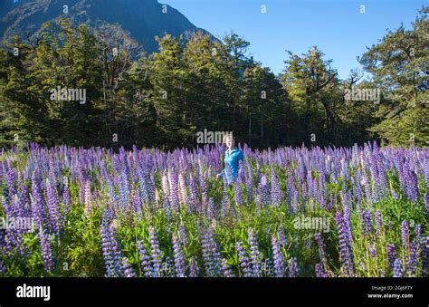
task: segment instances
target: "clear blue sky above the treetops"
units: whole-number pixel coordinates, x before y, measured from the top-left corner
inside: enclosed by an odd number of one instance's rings
[[[281,72],[285,50],[305,53],[317,45],[341,79],[360,68],[357,57],[386,29],[411,27],[421,0],[159,0],[217,37],[230,30],[251,43],[256,61]],[[261,13],[266,5],[266,14]],[[365,13],[360,13],[365,5]]]

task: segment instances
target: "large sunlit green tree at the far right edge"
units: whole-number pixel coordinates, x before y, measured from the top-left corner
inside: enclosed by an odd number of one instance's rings
[[[424,146],[429,141],[428,11],[429,6],[419,11],[412,29],[401,25],[389,31],[360,59],[385,96],[376,112],[380,122],[370,130],[386,144]]]

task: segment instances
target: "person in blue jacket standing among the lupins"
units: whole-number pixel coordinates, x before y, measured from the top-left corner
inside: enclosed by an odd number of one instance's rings
[[[235,146],[233,134],[226,134],[224,136],[224,144],[227,148],[224,157],[225,168],[217,177],[225,177],[228,185],[231,185],[238,176],[239,161],[244,161],[244,154],[242,150]],[[229,170],[226,169],[228,167]]]

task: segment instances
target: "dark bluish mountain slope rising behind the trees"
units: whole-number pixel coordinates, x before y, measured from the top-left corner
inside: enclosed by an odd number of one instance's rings
[[[63,5],[68,5],[68,14],[63,13]],[[148,53],[157,51],[156,35],[177,37],[202,30],[175,8],[163,7],[157,0],[18,0],[16,4],[14,0],[0,0],[0,37],[32,36],[44,22],[60,16],[70,17],[75,24],[88,24],[94,30],[108,29],[108,33],[129,36]]]

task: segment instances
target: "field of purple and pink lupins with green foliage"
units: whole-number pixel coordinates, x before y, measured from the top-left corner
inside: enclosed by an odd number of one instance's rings
[[[428,148],[243,152],[2,150],[0,276],[429,275]]]

